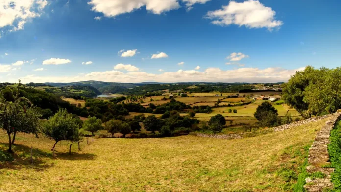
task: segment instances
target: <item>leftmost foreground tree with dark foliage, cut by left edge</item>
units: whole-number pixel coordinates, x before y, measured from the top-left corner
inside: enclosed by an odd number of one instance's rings
[[[3,93],[0,93],[0,127],[7,132],[9,152],[13,152],[12,144],[14,144],[16,132],[33,133],[37,136],[40,127],[39,118],[41,114],[34,108],[25,105],[31,106],[31,102],[27,98],[19,98],[20,86],[19,80],[16,97],[13,98],[14,102],[7,101]]]

